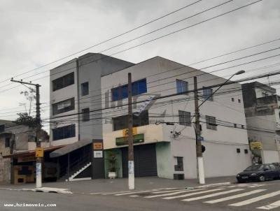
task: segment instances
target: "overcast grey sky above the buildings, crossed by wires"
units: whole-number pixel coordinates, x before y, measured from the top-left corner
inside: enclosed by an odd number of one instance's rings
[[[10,85],[9,81],[3,82],[3,80],[31,71],[34,68],[48,64],[73,52],[83,50],[195,1],[197,0],[0,0],[0,119],[15,119],[16,112],[25,110],[24,107],[20,107],[20,103],[27,102],[25,101],[25,97],[20,95],[21,91],[27,90],[26,87],[18,84]],[[200,1],[193,6],[180,10],[178,13],[153,22],[153,24],[148,24],[146,27],[121,36],[109,43],[99,45],[97,48],[85,50],[76,56],[69,57],[44,68],[39,68],[25,75],[20,75],[15,79],[20,80],[26,78],[25,80],[32,80],[32,82],[38,82],[42,85],[41,102],[43,103],[43,110],[45,110],[42,115],[43,117],[48,117],[48,107],[45,106],[49,106],[50,82],[48,70],[50,68],[54,68],[59,64],[63,64],[65,61],[87,52],[101,52],[113,45],[146,34],[149,31],[194,15],[225,1],[227,0]],[[144,43],[158,36],[168,34],[183,27],[188,27],[209,17],[225,13],[228,10],[251,2],[253,1],[230,1],[207,13],[197,15],[179,24],[174,24],[172,27],[144,36],[136,41],[103,53],[109,55],[114,54],[120,50],[125,50],[126,48]],[[161,38],[158,41],[141,45],[138,48],[127,50],[120,54],[115,54],[114,57],[138,63],[151,57],[160,56],[178,61],[181,64],[193,64],[196,61],[201,61],[219,54],[280,38],[279,23],[280,1],[263,0],[252,6],[218,17],[215,20],[204,22],[171,36]],[[219,62],[277,48],[279,45],[280,41],[275,41],[258,48],[252,48],[243,52],[230,54],[226,57],[193,65],[193,67],[203,68],[211,64],[218,64]],[[204,71],[214,71],[217,68],[241,64],[274,54],[280,54],[280,50],[259,54],[258,56],[249,57],[223,66],[207,68]],[[244,69],[248,73],[240,77],[247,77],[249,75],[278,70],[280,65],[254,71],[255,68],[277,64],[279,62],[280,57],[274,57],[250,65],[219,71],[216,75],[228,77],[228,75]],[[38,73],[41,74],[32,76]],[[35,80],[36,78],[42,77],[45,78]],[[279,77],[265,78],[260,80],[260,82],[272,82],[274,80],[279,80]]]

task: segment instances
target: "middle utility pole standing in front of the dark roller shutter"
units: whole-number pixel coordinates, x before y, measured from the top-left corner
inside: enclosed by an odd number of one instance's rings
[[[132,116],[132,74],[128,73],[128,188],[134,190],[134,152],[133,152],[133,116]]]

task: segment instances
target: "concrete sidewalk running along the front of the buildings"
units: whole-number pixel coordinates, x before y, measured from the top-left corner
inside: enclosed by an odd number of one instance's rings
[[[235,182],[235,177],[213,177],[207,178],[206,184],[221,182]],[[45,182],[43,187],[53,187],[59,189],[69,189],[73,194],[91,194],[98,192],[127,191],[127,178],[118,178],[115,180],[99,179],[85,180],[76,182]],[[0,189],[34,189],[36,184],[0,184]],[[159,189],[159,188],[185,188],[197,187],[200,184],[197,180],[169,180],[158,177],[136,177],[135,189]]]

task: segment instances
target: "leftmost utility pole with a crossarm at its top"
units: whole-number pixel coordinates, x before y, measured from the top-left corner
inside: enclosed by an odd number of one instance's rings
[[[41,142],[38,138],[38,132],[41,130],[41,113],[40,113],[40,90],[41,85],[33,84],[31,82],[23,82],[22,80],[10,80],[12,82],[19,82],[22,85],[31,85],[36,87],[36,147],[41,147]],[[42,158],[36,157],[36,188],[42,187]]]

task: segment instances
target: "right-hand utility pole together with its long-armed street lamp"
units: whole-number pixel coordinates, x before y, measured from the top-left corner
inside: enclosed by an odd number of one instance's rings
[[[216,92],[218,92],[221,87],[226,85],[228,81],[235,75],[241,75],[245,73],[244,70],[238,71],[237,73],[233,74],[223,82],[223,84],[218,87],[212,94],[210,94],[207,99],[205,99],[200,105],[198,105],[198,91],[197,91],[197,77],[194,77],[194,85],[195,85],[195,140],[196,140],[196,150],[197,150],[197,172],[198,172],[198,179],[200,184],[205,184],[205,175],[204,175],[204,162],[202,157],[202,138],[201,138],[201,131],[200,131],[200,106],[203,105],[211,96],[213,96]]]

